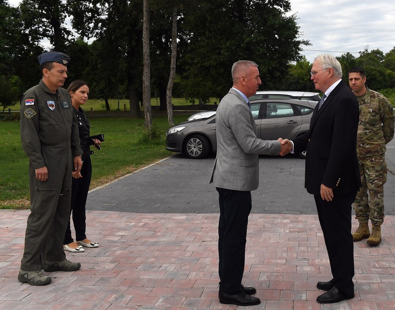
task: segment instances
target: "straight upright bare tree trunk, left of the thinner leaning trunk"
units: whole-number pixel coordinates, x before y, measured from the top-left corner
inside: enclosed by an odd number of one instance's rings
[[[151,137],[150,1],[143,0],[143,105],[144,126]]]

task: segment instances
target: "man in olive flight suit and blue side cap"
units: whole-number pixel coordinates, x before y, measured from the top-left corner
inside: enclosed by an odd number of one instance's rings
[[[29,157],[30,209],[25,250],[18,280],[46,285],[42,273],[75,271],[80,263],[66,259],[63,238],[70,217],[73,170],[82,166],[77,120],[69,93],[68,55],[46,52],[38,57],[42,79],[21,100],[21,141]]]

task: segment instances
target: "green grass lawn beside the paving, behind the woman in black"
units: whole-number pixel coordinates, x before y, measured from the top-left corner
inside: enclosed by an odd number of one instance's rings
[[[175,113],[174,123],[185,121],[190,114]],[[164,148],[165,132],[169,128],[165,112],[153,114],[153,128],[159,134],[155,140],[147,138],[143,118],[91,116],[89,121],[92,135],[105,135],[102,149],[92,148],[91,188],[174,154]],[[22,150],[19,121],[0,121],[0,136],[0,208],[29,207],[29,159]]]

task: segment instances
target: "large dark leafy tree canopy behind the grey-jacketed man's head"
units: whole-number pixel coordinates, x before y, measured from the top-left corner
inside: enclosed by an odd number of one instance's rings
[[[296,17],[286,0],[199,1],[186,19],[188,50],[181,60],[187,96],[221,98],[232,85],[231,68],[247,59],[259,65],[262,89],[278,88],[288,64],[301,58]]]

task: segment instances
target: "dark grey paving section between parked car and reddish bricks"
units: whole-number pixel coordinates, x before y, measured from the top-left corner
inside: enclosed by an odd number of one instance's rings
[[[218,213],[218,194],[209,184],[214,158],[172,156],[90,191],[86,208],[136,213]],[[251,213],[316,214],[314,198],[304,188],[304,165],[305,160],[297,156],[260,156],[260,184],[252,192]],[[391,160],[388,167],[386,214],[395,215],[395,166]]]

